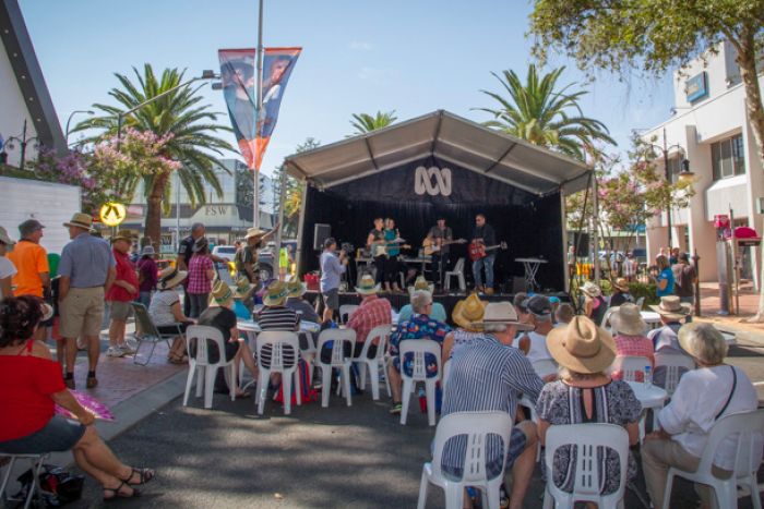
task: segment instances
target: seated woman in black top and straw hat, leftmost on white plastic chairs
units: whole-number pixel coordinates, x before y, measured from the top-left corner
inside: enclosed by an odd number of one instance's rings
[[[225,341],[226,361],[234,361],[234,380],[238,380],[236,375],[239,369],[239,361],[243,361],[244,366],[249,369],[252,377],[258,379],[258,366],[254,364],[254,356],[249,348],[249,344],[239,337],[237,328],[237,317],[234,313],[234,291],[228,284],[223,281],[217,281],[212,289],[210,295],[210,306],[202,312],[196,320],[198,325],[206,325],[214,327],[223,334]],[[191,354],[195,354],[195,348],[192,348]],[[220,353],[212,344],[207,347],[207,357],[210,362],[217,362]],[[249,393],[237,387],[236,397],[246,398]]]

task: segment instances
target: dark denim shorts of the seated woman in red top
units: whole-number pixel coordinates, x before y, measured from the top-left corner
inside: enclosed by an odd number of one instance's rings
[[[43,429],[32,435],[0,441],[0,452],[9,455],[41,455],[71,450],[85,434],[85,425],[79,421],[53,415]]]

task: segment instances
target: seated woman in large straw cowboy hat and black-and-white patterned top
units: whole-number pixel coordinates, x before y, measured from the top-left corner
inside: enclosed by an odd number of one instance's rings
[[[606,423],[623,426],[629,445],[640,439],[637,422],[642,404],[629,384],[612,380],[605,371],[616,357],[610,334],[594,322],[575,316],[568,327],[552,329],[547,348],[561,367],[560,380],[544,386],[536,403],[538,435],[545,444],[549,426],[560,424]],[[629,453],[629,478],[636,475],[636,462]],[[575,458],[570,446],[558,449],[550,480],[565,492],[573,490]],[[619,459],[608,450],[602,494],[614,493],[619,485]],[[660,506],[656,506],[660,507]]]

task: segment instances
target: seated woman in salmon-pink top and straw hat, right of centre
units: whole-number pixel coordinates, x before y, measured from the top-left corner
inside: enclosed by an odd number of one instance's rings
[[[645,336],[647,324],[642,319],[636,304],[626,303],[614,308],[610,315],[610,325],[616,335],[613,338],[616,341],[616,368],[611,373],[613,379],[623,378],[623,372],[619,365],[619,361],[623,357],[646,357],[650,367],[655,365],[653,341]],[[644,372],[636,373],[636,381],[644,381]]]

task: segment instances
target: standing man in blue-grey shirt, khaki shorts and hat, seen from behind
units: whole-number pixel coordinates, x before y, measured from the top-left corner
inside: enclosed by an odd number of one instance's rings
[[[100,323],[104,318],[104,295],[111,288],[117,270],[109,244],[91,235],[93,218],[88,214],[76,213],[72,220],[63,223],[69,228],[72,240],[63,246],[58,274],[59,302],[61,310],[61,337],[58,348],[63,348],[67,355],[67,374],[64,381],[74,388],[74,363],[76,361],[76,338],[82,336],[87,344],[87,384],[88,389],[98,385],[96,366],[100,344]]]

